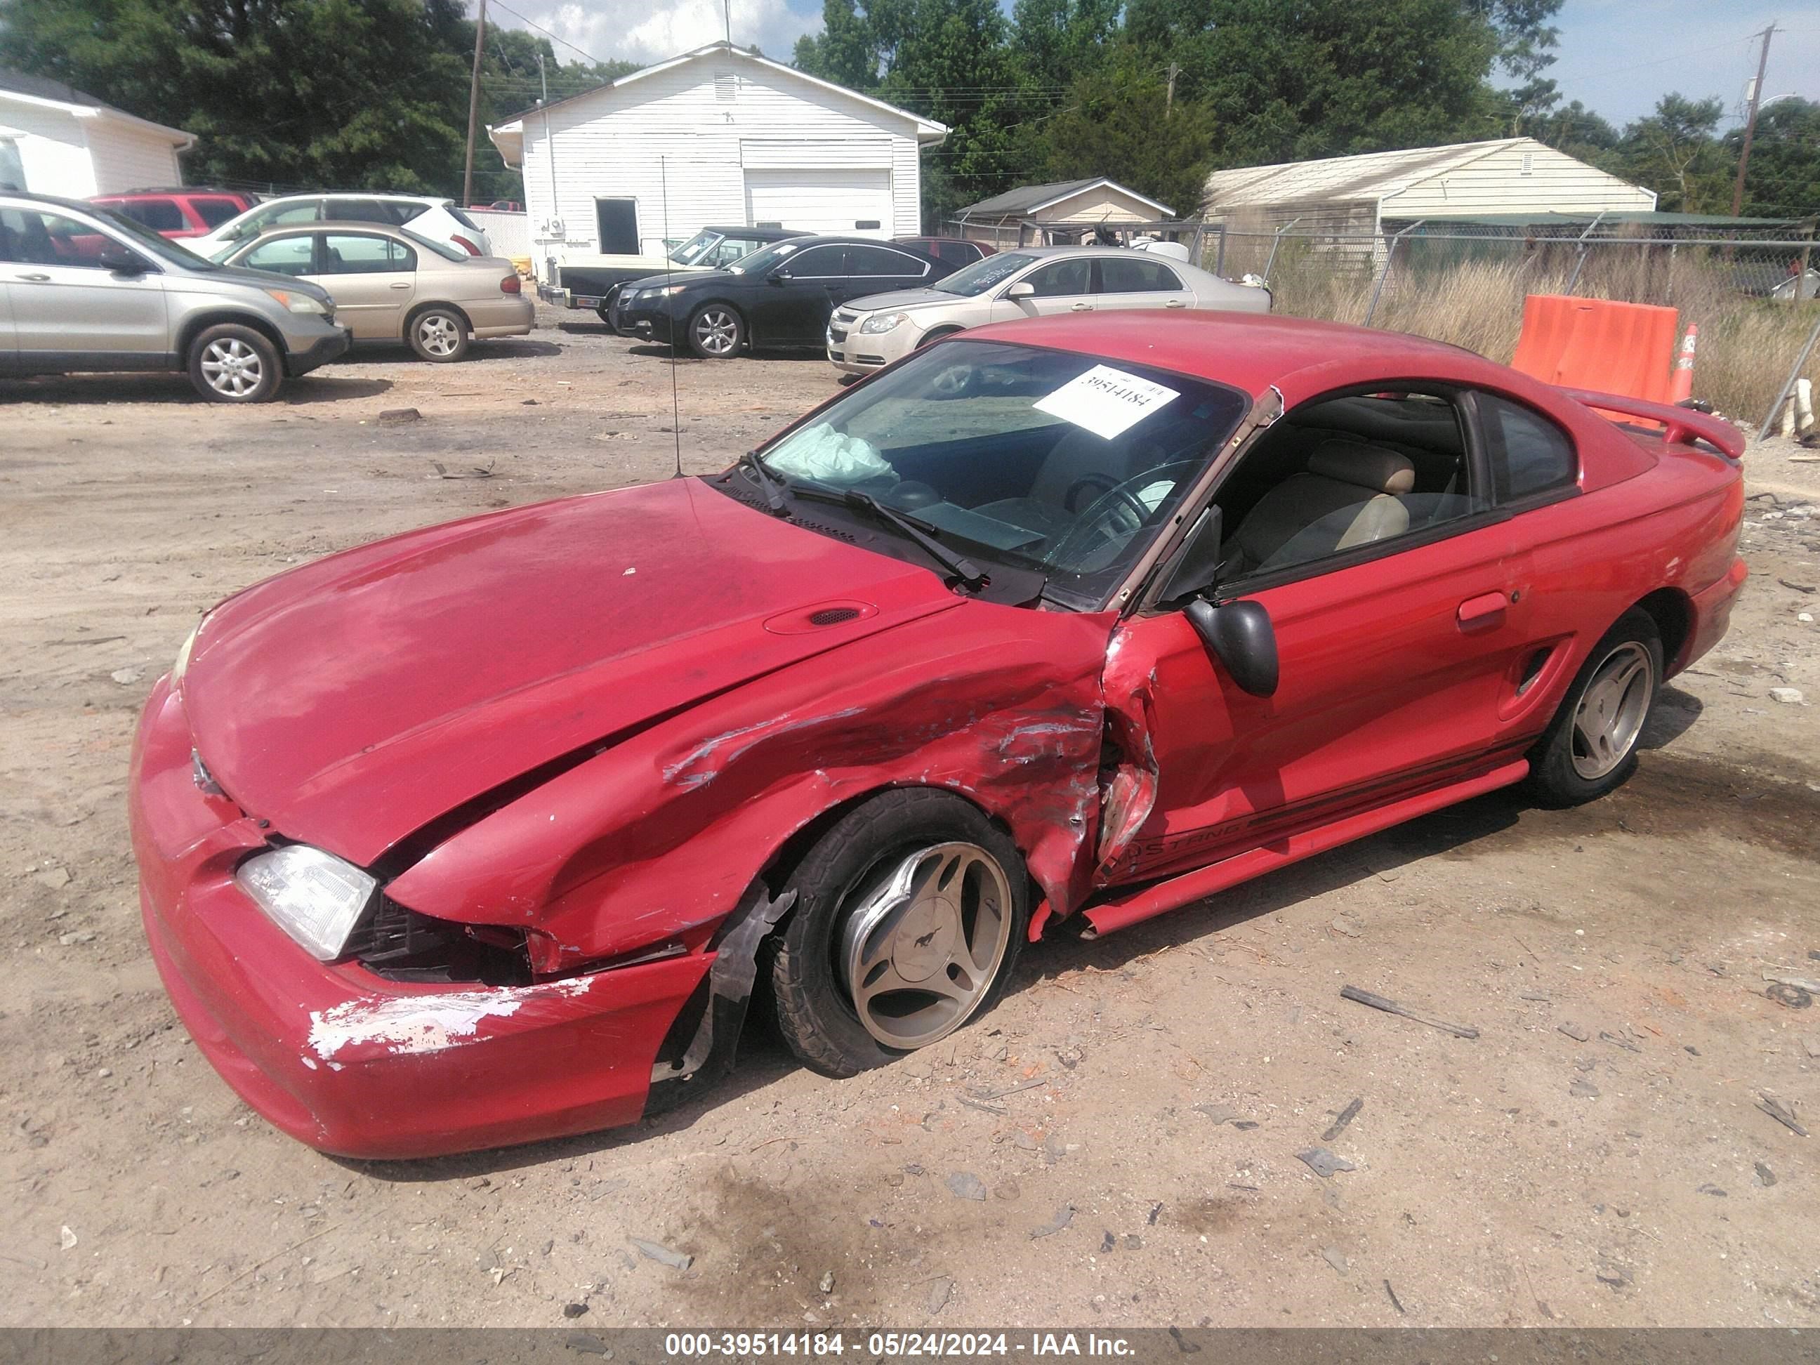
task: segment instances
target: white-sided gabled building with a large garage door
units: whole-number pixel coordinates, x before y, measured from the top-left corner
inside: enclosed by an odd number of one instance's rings
[[[486,129],[524,171],[539,269],[664,255],[706,226],[921,231],[919,151],[948,129],[717,42]]]

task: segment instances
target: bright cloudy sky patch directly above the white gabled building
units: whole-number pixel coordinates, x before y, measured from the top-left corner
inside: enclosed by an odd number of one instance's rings
[[[513,9],[602,62],[662,62],[726,36],[723,0],[524,0]],[[499,18],[521,27],[511,15]],[[741,47],[757,44],[766,56],[788,60],[795,40],[821,27],[821,5],[732,0],[732,20]],[[571,49],[559,55],[570,62],[579,56]]]

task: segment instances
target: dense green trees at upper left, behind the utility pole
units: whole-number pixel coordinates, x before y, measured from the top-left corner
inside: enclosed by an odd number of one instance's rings
[[[482,122],[632,69],[490,29]],[[191,182],[460,193],[473,22],[462,0],[0,0],[0,66],[197,135]],[[517,173],[475,149],[491,195]]]

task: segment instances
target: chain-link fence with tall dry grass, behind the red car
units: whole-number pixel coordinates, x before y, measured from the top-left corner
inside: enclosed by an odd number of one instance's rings
[[[1199,262],[1256,275],[1276,311],[1409,331],[1509,362],[1532,293],[1656,304],[1698,324],[1694,397],[1758,420],[1820,320],[1813,222],[1709,224],[1387,222],[1385,231],[1207,226]],[[1802,375],[1820,379],[1820,351]]]

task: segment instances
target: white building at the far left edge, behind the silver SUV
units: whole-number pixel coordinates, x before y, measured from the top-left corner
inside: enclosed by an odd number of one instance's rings
[[[60,80],[0,69],[0,189],[87,198],[177,186],[195,142]]]

